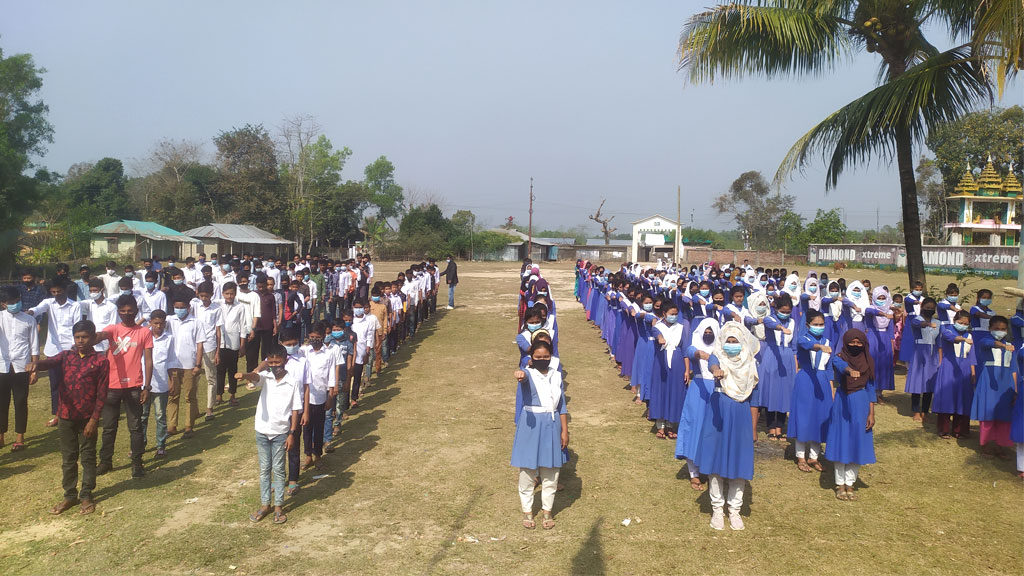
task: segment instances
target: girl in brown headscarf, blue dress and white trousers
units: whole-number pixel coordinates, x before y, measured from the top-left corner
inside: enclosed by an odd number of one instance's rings
[[[860,466],[874,463],[874,361],[867,336],[856,328],[843,335],[843,349],[833,359],[836,399],[828,434],[828,459],[836,465],[836,498],[854,500]]]

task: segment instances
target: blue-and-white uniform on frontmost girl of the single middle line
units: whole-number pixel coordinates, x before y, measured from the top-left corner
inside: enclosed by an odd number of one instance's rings
[[[532,368],[527,368],[523,372],[526,373],[526,377],[519,382],[519,388],[524,404],[516,419],[510,463],[520,468],[559,468],[568,461],[566,451],[562,450],[561,440],[560,415],[567,413],[565,395],[561,392],[561,374],[550,368],[547,375]],[[547,386],[557,386],[557,400],[554,402],[551,398],[542,400],[539,392],[541,382],[538,380],[546,380]],[[547,386],[542,386],[541,389],[547,392]]]

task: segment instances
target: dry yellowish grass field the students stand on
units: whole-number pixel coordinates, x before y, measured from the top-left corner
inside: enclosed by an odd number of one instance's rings
[[[378,275],[397,269],[381,263]],[[508,463],[517,273],[515,264],[460,265],[460,306],[439,312],[374,382],[324,470],[304,472],[302,491],[286,500],[283,526],[247,519],[259,499],[253,394],[190,441],[174,437],[168,459],[148,453],[150,474],[138,481],[129,478],[122,425],[118,467],[98,479],[96,513],[51,517],[59,455],[55,431],[42,427],[49,399],[41,379],[28,450],[0,453],[0,574],[1024,572],[1024,488],[1014,462],[982,457],[977,440],[943,441],[933,425],[915,425],[903,394],[878,408],[879,462],[862,469],[857,501],[835,499],[830,467],[802,474],[792,447],[762,440],[746,530],[711,530],[707,493],[689,489],[674,443],[656,440],[630,402],[572,299],[569,264],[545,274],[559,306],[572,457],[557,527],[524,531]],[[846,276],[906,284],[895,273]],[[948,281],[932,278],[933,286]],[[980,285],[1004,283],[969,282]],[[1012,306],[996,295],[993,307]]]

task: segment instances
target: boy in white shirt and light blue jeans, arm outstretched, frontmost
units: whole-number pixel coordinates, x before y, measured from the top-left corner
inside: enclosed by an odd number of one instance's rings
[[[270,513],[271,495],[273,523],[288,521],[285,504],[285,454],[295,444],[299,428],[299,414],[302,409],[302,386],[296,377],[288,372],[288,353],[283,346],[270,348],[266,357],[266,372],[236,374],[239,379],[250,383],[249,389],[260,388],[256,404],[256,451],[259,455],[260,507],[249,516],[251,522],[259,522]],[[272,478],[272,481],[271,481]]]

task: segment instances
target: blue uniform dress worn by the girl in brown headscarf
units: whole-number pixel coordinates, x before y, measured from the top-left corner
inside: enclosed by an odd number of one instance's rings
[[[848,366],[842,358],[833,358],[837,384],[846,378]],[[864,429],[874,398],[872,387],[870,381],[866,387],[853,393],[847,393],[842,385],[836,386],[836,400],[825,435],[825,454],[829,460],[841,464],[874,463],[874,431]]]

